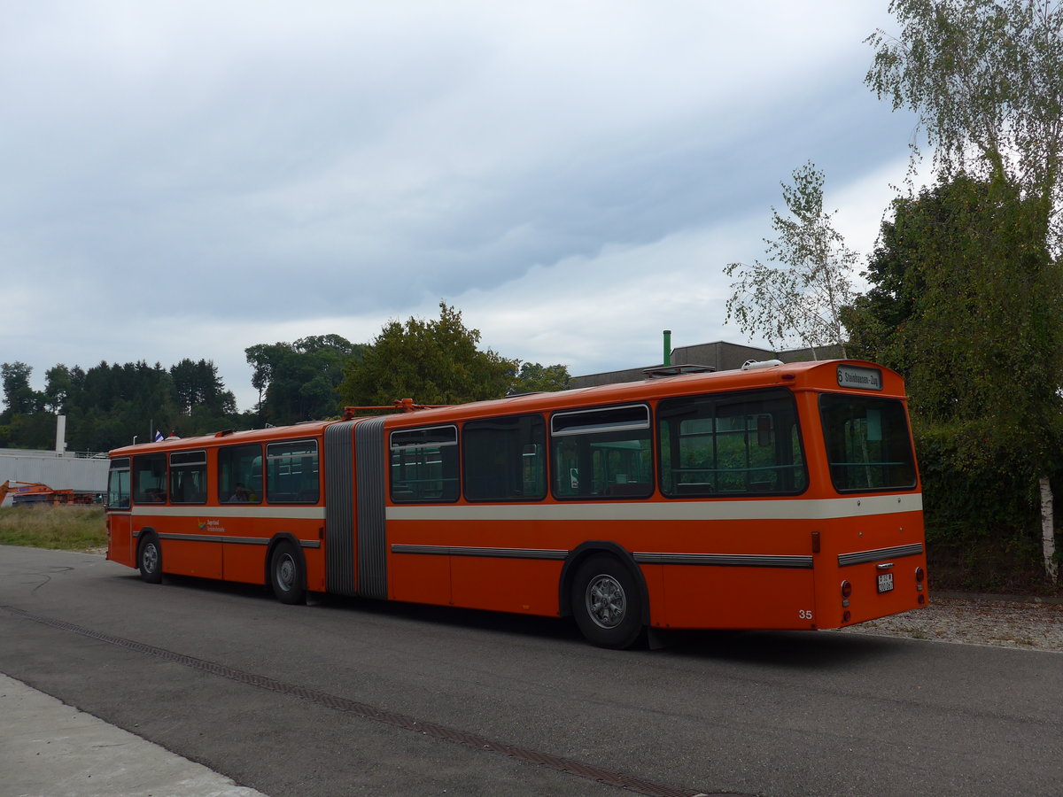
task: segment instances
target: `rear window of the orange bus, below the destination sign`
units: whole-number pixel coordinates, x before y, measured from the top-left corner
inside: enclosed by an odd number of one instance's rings
[[[915,487],[908,420],[899,401],[824,393],[820,414],[830,480],[838,492]]]

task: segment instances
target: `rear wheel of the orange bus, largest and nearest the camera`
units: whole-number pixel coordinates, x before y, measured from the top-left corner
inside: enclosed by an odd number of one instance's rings
[[[572,581],[572,613],[592,645],[621,650],[642,635],[642,605],[631,572],[598,554],[579,565]]]

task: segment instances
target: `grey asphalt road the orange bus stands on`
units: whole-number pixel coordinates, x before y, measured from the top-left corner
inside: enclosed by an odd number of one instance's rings
[[[1063,790],[1060,654],[829,632],[670,642],[615,652],[553,620],[286,607],[0,546],[0,672],[270,797]]]

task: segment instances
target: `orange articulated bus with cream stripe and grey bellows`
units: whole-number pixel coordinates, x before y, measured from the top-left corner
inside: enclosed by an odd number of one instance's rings
[[[118,448],[108,558],[290,604],[573,616],[614,648],[646,629],[839,628],[926,604],[898,374],[682,370]]]

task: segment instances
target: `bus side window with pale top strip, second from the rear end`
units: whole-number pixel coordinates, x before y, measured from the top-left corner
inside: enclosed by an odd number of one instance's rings
[[[557,412],[551,420],[558,498],[645,498],[654,491],[649,407]]]

